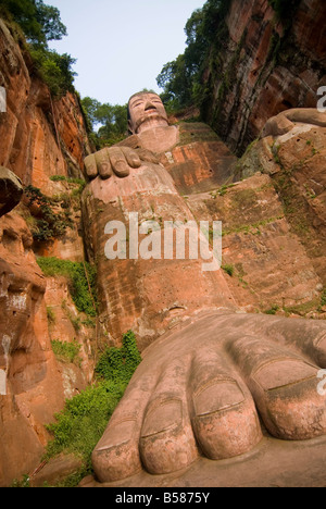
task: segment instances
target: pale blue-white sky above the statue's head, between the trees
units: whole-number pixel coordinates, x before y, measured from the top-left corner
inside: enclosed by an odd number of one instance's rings
[[[143,88],[161,94],[156,76],[186,48],[185,25],[205,0],[47,0],[67,37],[50,48],[77,59],[82,97],[125,104]]]

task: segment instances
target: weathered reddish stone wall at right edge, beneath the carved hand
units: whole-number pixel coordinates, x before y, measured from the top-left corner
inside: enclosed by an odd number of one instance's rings
[[[271,176],[291,231],[325,286],[325,127],[298,124],[290,133],[256,141],[240,160]]]

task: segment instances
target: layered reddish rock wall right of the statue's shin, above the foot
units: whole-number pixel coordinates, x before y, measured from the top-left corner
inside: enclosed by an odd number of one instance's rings
[[[209,215],[222,221],[223,266],[247,312],[317,308],[321,281],[291,232],[269,176],[258,173],[222,196],[191,196],[188,204],[198,220]]]

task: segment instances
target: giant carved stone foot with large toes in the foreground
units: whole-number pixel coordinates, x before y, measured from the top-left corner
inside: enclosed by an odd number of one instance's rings
[[[227,314],[153,344],[93,451],[98,480],[243,455],[263,437],[260,419],[284,440],[326,434],[325,343],[322,322]]]

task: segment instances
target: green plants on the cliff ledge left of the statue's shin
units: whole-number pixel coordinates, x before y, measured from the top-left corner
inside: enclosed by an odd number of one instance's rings
[[[97,314],[97,272],[85,262],[72,262],[58,258],[38,258],[37,263],[46,276],[64,276],[68,280],[70,293],[79,312],[89,316]],[[75,327],[76,328],[76,327]]]

